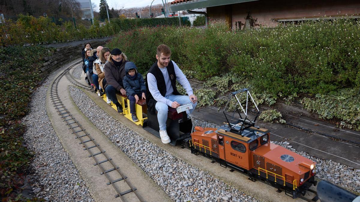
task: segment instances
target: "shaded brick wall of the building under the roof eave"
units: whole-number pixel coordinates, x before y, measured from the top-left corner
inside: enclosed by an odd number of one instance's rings
[[[256,19],[257,24],[274,27],[276,19],[316,18],[324,15],[358,15],[360,14],[359,0],[324,0],[324,1],[285,1],[259,0],[246,3],[231,4],[231,10],[225,6],[208,7],[207,13],[211,20],[225,20],[226,14],[231,14],[231,26],[235,22],[245,23],[247,12]],[[274,20],[275,18],[275,20]],[[211,21],[210,20],[210,21]]]

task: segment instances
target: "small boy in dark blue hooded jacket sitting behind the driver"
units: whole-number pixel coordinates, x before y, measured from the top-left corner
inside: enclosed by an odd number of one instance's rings
[[[126,96],[130,101],[130,113],[132,121],[139,121],[136,117],[135,103],[140,100],[140,98],[146,99],[145,97],[145,81],[143,76],[138,73],[138,68],[136,68],[133,62],[127,62],[125,64],[125,73],[126,76],[123,78],[122,83],[126,91]]]

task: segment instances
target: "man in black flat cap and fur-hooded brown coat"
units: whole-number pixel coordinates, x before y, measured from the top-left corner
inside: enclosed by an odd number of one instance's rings
[[[107,82],[104,86],[106,96],[116,105],[118,113],[122,113],[123,109],[117,100],[116,93],[120,92],[122,95],[126,95],[122,79],[125,77],[125,63],[129,60],[127,60],[126,55],[120,49],[115,48],[110,52],[108,61],[104,66]]]

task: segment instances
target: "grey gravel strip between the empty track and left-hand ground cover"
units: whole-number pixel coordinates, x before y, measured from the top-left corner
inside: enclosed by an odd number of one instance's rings
[[[65,65],[66,67],[68,65]],[[46,92],[55,75],[64,66],[48,75],[44,83],[35,90],[30,103],[30,113],[22,122],[27,131],[24,140],[34,159],[30,166],[33,195],[46,201],[93,201],[78,170],[64,150],[46,112]],[[64,125],[65,127],[65,125]]]

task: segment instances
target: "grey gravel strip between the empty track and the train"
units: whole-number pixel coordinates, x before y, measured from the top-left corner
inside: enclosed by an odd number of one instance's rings
[[[84,115],[174,201],[258,201],[171,155],[105,113],[81,89],[70,95]]]

